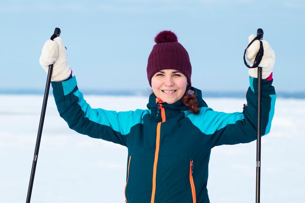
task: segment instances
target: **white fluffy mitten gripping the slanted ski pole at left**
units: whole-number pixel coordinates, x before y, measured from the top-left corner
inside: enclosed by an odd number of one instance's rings
[[[67,50],[60,37],[56,37],[54,41],[49,39],[44,43],[39,63],[46,73],[48,73],[49,65],[54,63],[51,81],[63,81],[71,74]]]

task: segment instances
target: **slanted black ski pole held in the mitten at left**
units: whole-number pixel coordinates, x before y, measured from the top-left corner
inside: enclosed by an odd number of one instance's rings
[[[52,35],[51,39],[54,40],[54,38],[59,37],[59,35],[60,35],[60,29],[55,28],[54,34]],[[52,71],[53,71],[53,64],[49,65],[49,71],[48,71],[47,82],[46,82],[44,96],[43,96],[42,109],[41,109],[41,114],[40,114],[40,121],[39,121],[38,134],[37,134],[37,140],[36,140],[36,147],[35,147],[35,152],[34,152],[34,159],[33,159],[33,164],[32,164],[32,171],[31,171],[28,193],[27,193],[27,197],[26,197],[26,203],[30,203],[30,201],[31,201],[32,188],[33,188],[33,183],[34,183],[34,176],[35,176],[35,171],[36,171],[38,151],[39,151],[39,146],[40,146],[44,116],[45,116],[45,111],[47,108]]]

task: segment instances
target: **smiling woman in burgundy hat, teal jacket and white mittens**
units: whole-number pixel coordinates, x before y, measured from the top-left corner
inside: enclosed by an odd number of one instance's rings
[[[250,36],[249,40],[254,36]],[[39,62],[54,63],[52,87],[57,109],[71,129],[128,148],[125,197],[128,203],[209,203],[207,181],[211,148],[256,139],[257,78],[250,69],[248,105],[243,112],[208,108],[200,90],[191,86],[188,52],[171,31],[155,37],[147,77],[153,93],[146,110],[126,112],[92,109],[76,85],[60,37],[46,41]],[[275,55],[263,41],[262,134],[269,132],[275,91]],[[247,51],[253,63],[259,49]]]

